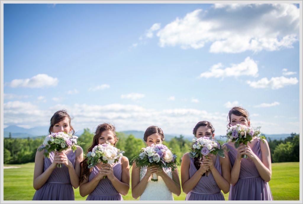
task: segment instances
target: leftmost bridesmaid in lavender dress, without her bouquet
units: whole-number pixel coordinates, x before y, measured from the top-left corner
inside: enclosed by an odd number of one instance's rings
[[[66,110],[55,112],[51,118],[51,132],[75,132],[71,126],[71,118]],[[83,150],[77,146],[72,152],[69,148],[62,152],[50,152],[50,158],[37,151],[33,186],[36,189],[33,200],[75,200],[74,188],[79,186],[80,162]],[[62,164],[58,168],[57,164]]]

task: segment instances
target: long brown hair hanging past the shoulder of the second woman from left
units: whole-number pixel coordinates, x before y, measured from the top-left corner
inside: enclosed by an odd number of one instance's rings
[[[96,145],[98,145],[100,135],[102,134],[103,131],[106,131],[106,130],[110,130],[110,131],[112,131],[114,133],[114,138],[116,140],[114,146],[117,144],[119,138],[117,138],[115,126],[111,125],[111,124],[108,124],[108,123],[103,123],[101,125],[98,125],[98,127],[96,129],[96,132],[95,132],[95,135],[93,137],[92,145],[90,147],[88,147],[87,153],[90,152],[90,151],[92,151],[92,149]],[[85,158],[80,163],[80,166],[81,166],[81,175],[80,175],[80,183],[81,183],[86,178],[86,176],[88,176],[91,173],[92,168],[88,168],[87,158]]]

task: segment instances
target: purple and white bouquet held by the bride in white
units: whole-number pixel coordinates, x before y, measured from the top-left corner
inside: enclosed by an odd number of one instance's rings
[[[175,159],[177,156],[171,150],[163,144],[152,144],[151,147],[142,148],[139,156],[132,160],[136,162],[137,167],[158,166],[165,169],[171,168],[173,171],[177,168]],[[152,173],[151,180],[158,181],[158,175]]]

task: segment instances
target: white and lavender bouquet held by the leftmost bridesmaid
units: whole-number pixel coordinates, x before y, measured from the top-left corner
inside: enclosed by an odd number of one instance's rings
[[[43,145],[38,148],[38,151],[46,150],[43,154],[45,157],[49,158],[51,151],[61,152],[67,150],[69,147],[72,148],[72,151],[75,152],[77,147],[77,136],[72,134],[66,134],[65,132],[52,133],[45,137]],[[78,144],[84,144],[78,141]],[[62,164],[57,164],[57,167],[62,167]]]

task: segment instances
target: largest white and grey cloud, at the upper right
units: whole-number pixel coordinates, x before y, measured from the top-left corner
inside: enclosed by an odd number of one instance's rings
[[[158,31],[160,47],[204,47],[240,53],[291,48],[299,37],[299,8],[293,4],[216,4],[176,18]]]

